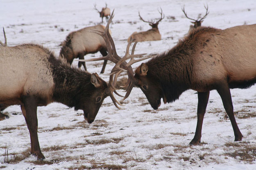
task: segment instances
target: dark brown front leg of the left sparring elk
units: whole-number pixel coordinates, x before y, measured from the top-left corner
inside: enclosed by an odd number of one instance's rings
[[[37,115],[36,115],[36,110],[37,110],[37,105],[36,105],[36,98],[32,96],[26,96],[23,99],[23,105],[21,105],[21,110],[23,113],[23,116],[25,117],[26,123],[27,123],[27,128],[29,130],[29,135],[30,135],[30,141],[31,141],[31,154],[36,155],[38,159],[45,159],[43,156],[40,146],[39,146],[39,141],[38,141],[38,136],[37,136]]]

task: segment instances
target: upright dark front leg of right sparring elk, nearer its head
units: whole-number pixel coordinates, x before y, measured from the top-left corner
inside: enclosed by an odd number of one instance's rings
[[[190,145],[197,145],[201,142],[202,136],[202,125],[204,120],[204,114],[206,111],[206,106],[208,103],[210,92],[198,92],[198,104],[197,104],[197,128],[195,130],[195,136],[192,141],[189,143]]]

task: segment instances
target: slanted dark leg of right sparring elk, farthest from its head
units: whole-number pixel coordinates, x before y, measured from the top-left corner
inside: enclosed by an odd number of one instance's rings
[[[231,94],[230,94],[230,89],[227,83],[222,84],[218,89],[217,92],[220,94],[220,97],[222,99],[222,103],[224,105],[224,109],[227,112],[227,115],[229,116],[229,119],[232,124],[232,128],[235,134],[235,141],[242,141],[242,133],[240,132],[238,125],[236,123],[236,119],[234,116],[234,111],[233,111],[233,104],[232,104],[232,99],[231,99]]]

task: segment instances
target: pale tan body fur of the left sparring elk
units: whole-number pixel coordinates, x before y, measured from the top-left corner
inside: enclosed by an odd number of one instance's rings
[[[0,56],[0,63],[5,63],[0,67],[0,72],[5,73],[0,74],[0,103],[20,105],[20,96],[26,94],[42,96],[46,101],[42,105],[51,102],[54,83],[48,55],[43,49],[38,46],[0,47]],[[41,67],[40,72],[34,72],[33,67]]]

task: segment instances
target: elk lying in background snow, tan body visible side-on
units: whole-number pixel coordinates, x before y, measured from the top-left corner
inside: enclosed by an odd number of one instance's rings
[[[134,41],[137,41],[137,42],[161,40],[161,34],[159,32],[159,29],[158,29],[158,24],[164,18],[162,9],[161,9],[161,12],[159,11],[159,13],[161,14],[161,17],[160,17],[159,20],[157,20],[157,21],[152,21],[152,20],[151,21],[145,21],[140,16],[140,12],[139,12],[140,20],[142,20],[143,22],[149,23],[149,25],[152,27],[152,29],[149,29],[147,31],[142,31],[142,32],[134,32],[134,33],[131,34],[131,36],[129,36],[127,41],[129,42],[130,39],[134,39]]]

